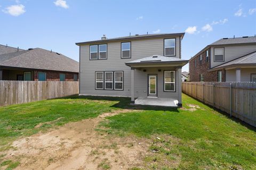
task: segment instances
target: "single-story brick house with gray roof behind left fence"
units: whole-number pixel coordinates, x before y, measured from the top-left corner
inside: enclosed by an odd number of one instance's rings
[[[79,63],[49,50],[0,45],[0,80],[78,81]]]

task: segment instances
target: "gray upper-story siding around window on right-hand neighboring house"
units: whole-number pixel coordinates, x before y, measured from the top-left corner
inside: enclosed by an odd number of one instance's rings
[[[213,49],[218,47],[224,47],[224,62],[214,62]],[[223,45],[218,47],[211,47],[211,68],[256,51],[256,45]]]

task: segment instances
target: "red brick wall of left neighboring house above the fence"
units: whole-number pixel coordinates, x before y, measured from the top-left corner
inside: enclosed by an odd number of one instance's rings
[[[58,71],[34,71],[35,81],[38,81],[38,72],[46,73],[46,81],[60,81],[60,73],[65,73],[66,81],[74,81],[74,74],[77,74],[77,81],[79,80],[78,73],[58,72]]]

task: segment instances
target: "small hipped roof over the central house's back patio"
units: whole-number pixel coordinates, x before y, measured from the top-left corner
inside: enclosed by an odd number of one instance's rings
[[[138,60],[126,62],[125,65],[131,67],[154,67],[154,66],[183,66],[188,63],[188,60],[182,60],[176,57],[166,57],[161,55],[153,55]]]

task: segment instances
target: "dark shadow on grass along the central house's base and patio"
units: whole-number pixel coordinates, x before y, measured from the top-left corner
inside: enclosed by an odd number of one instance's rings
[[[89,100],[109,100],[118,101],[111,107],[122,108],[122,109],[137,109],[145,111],[171,111],[179,112],[178,108],[175,107],[163,107],[163,106],[149,106],[149,105],[131,105],[130,97],[107,97],[107,96],[69,96],[64,97],[66,99],[89,99]]]

